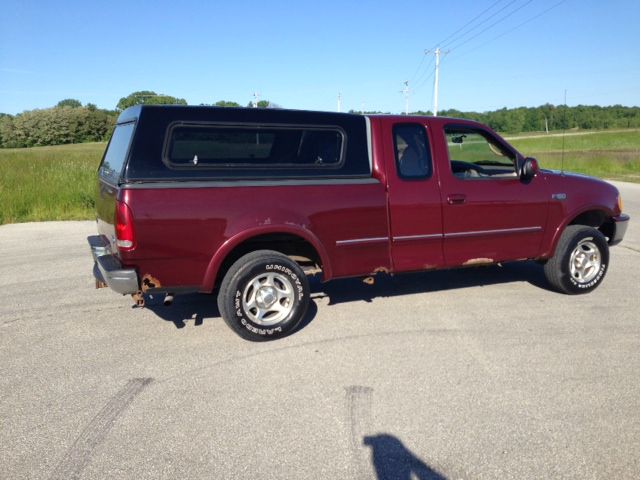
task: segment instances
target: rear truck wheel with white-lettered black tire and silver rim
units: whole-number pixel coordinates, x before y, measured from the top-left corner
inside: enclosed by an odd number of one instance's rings
[[[307,312],[309,294],[307,276],[296,262],[280,252],[257,250],[227,271],[218,309],[234,332],[261,342],[292,333]]]

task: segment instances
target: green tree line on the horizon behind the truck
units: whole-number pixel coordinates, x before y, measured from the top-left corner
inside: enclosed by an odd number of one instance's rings
[[[110,137],[119,113],[125,108],[138,104],[187,105],[187,101],[183,98],[145,90],[133,92],[121,98],[113,110],[99,109],[91,103],[82,105],[80,101],[68,98],[51,108],[29,110],[17,115],[0,113],[0,147],[17,148],[105,141]],[[229,100],[219,100],[210,105],[241,106]],[[252,107],[254,104],[249,102],[246,106]],[[259,101],[257,106],[278,107],[268,100]],[[382,112],[351,111],[351,113]],[[412,114],[431,115],[431,112],[418,111]],[[504,133],[572,128],[640,128],[640,107],[622,105],[568,107],[545,104],[539,107],[502,108],[491,112],[464,112],[450,109],[441,111],[440,115],[476,120]]]

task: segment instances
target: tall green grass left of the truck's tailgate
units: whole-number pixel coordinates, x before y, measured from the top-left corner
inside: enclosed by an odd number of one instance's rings
[[[93,218],[105,145],[0,149],[0,224]]]

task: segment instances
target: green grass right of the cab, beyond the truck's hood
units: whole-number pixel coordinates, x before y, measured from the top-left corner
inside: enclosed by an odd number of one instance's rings
[[[565,171],[640,182],[640,130],[579,133],[569,131],[564,137]],[[523,155],[537,158],[543,168],[562,168],[562,135],[508,140]]]

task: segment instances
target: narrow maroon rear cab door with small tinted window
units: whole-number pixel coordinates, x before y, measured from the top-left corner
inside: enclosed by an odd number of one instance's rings
[[[442,266],[442,207],[428,129],[389,121],[384,135],[394,271]]]

